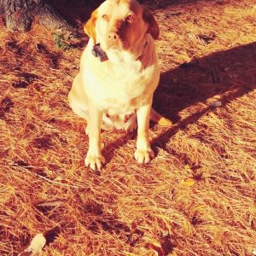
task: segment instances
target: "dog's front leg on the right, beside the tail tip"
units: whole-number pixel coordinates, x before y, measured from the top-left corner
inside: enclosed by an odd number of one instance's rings
[[[150,147],[148,139],[149,131],[149,115],[151,109],[151,103],[142,106],[137,109],[137,150],[135,152],[135,158],[139,164],[148,164],[152,158],[154,158],[154,152]]]

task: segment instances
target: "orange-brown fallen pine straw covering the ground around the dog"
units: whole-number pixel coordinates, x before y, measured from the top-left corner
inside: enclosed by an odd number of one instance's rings
[[[148,166],[134,135],[103,132],[102,173],[84,167],[85,122],[67,104],[84,35],[63,51],[41,26],[0,25],[1,255],[38,233],[50,234],[43,255],[253,254],[255,3],[155,3],[154,106],[173,125],[152,126]]]

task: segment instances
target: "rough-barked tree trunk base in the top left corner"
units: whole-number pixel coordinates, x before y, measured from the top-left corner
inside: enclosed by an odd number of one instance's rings
[[[37,17],[44,26],[73,31],[73,26],[47,0],[0,0],[0,9],[6,26],[13,30],[28,31],[32,20]]]

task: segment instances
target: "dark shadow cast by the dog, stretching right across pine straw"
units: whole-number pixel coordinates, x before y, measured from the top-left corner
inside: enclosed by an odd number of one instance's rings
[[[219,51],[161,73],[153,106],[171,119],[173,125],[151,142],[154,151],[157,151],[156,148],[166,149],[166,143],[177,131],[212,111],[208,99],[218,96],[221,108],[224,108],[227,103],[255,88],[256,43]],[[198,102],[204,102],[206,107],[193,109]],[[179,113],[186,108],[192,114],[182,119]],[[108,161],[113,158],[114,150],[132,137],[134,134],[122,134],[117,141],[107,143],[104,151]]]

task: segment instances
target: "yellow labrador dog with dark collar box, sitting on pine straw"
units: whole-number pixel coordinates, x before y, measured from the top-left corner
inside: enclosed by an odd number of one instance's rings
[[[85,166],[100,170],[101,129],[137,129],[135,158],[147,164],[154,158],[148,141],[149,119],[170,125],[151,108],[160,68],[154,49],[159,26],[153,14],[135,0],[107,0],[84,26],[89,43],[81,57],[69,102],[87,119],[89,150]]]

